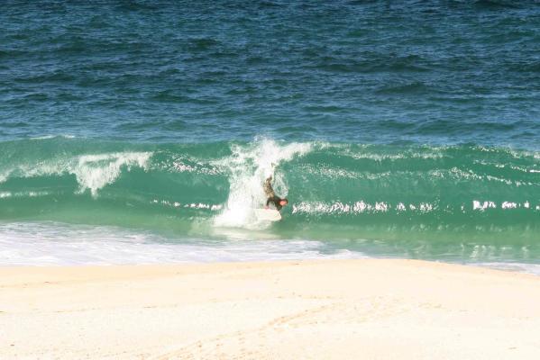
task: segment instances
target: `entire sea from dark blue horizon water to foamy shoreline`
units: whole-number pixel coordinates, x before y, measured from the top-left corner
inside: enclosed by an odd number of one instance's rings
[[[540,265],[537,3],[2,10],[0,264]]]

